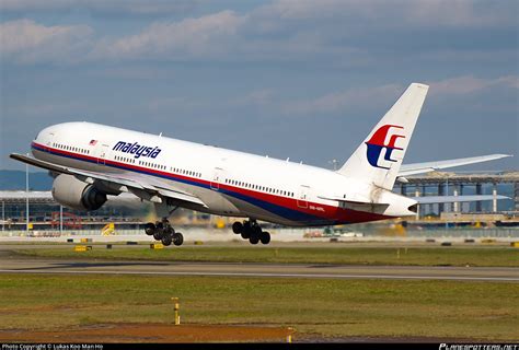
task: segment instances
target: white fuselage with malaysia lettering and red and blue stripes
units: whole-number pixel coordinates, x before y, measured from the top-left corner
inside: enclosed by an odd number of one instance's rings
[[[330,225],[413,214],[415,201],[324,168],[91,122],[66,122],[39,132],[38,160],[180,188],[219,215],[286,225]],[[385,207],[345,203],[388,203]]]

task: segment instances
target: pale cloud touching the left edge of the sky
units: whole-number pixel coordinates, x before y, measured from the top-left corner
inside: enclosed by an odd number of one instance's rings
[[[0,55],[14,62],[70,61],[79,59],[92,36],[86,25],[45,26],[32,20],[0,24]]]

